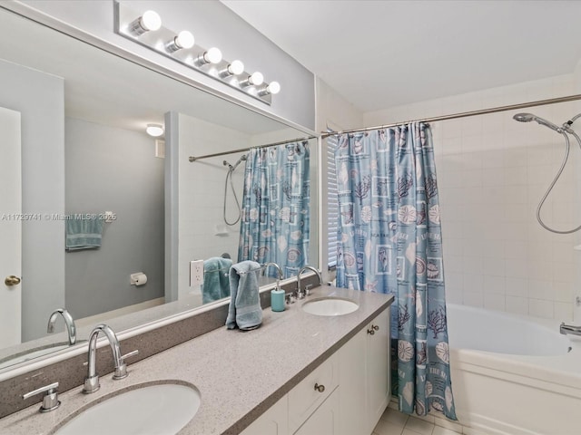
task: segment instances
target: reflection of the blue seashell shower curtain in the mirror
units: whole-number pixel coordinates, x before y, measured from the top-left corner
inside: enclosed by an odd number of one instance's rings
[[[307,140],[251,149],[244,172],[238,261],[281,266],[284,277],[308,264],[310,150]],[[274,267],[267,273],[277,277]]]

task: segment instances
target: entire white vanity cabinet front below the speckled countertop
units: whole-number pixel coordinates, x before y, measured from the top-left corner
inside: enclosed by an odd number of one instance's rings
[[[389,403],[389,307],[242,435],[370,435]]]

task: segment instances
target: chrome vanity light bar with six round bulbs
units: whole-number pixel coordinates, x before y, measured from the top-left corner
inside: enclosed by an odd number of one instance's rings
[[[212,77],[231,88],[266,104],[271,96],[281,91],[279,82],[264,82],[262,73],[247,73],[239,60],[229,62],[222,59],[222,52],[212,47],[204,49],[194,44],[193,34],[186,30],[175,33],[162,25],[162,19],[154,11],[142,14],[131,7],[114,2],[115,33],[135,43],[161,53],[195,71]]]

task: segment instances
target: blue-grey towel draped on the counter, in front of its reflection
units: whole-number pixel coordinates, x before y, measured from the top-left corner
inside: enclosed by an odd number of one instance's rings
[[[261,265],[242,261],[230,269],[230,307],[226,326],[241,330],[258,328],[262,323],[261,297],[258,293],[258,276]]]

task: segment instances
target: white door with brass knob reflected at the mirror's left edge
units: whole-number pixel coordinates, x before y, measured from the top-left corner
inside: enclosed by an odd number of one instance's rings
[[[22,174],[20,112],[0,107],[0,348],[20,343]]]

